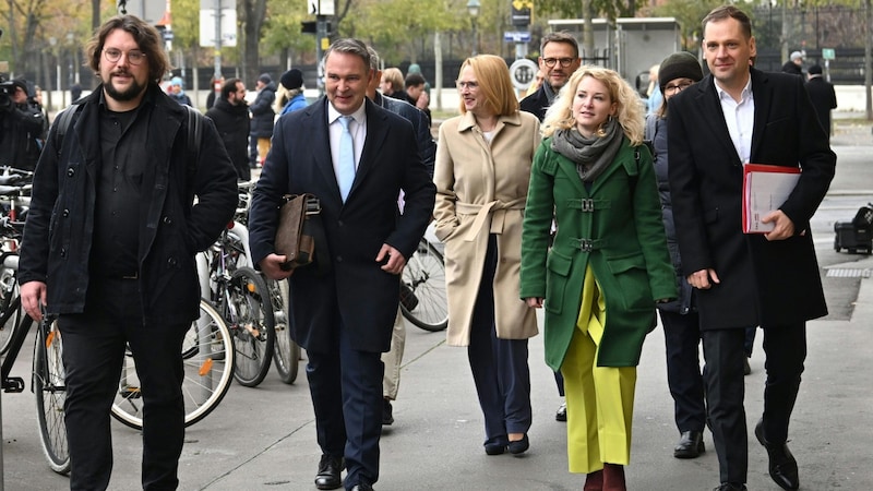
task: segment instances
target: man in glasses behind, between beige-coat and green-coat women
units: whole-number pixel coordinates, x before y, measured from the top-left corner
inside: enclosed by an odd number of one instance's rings
[[[558,93],[570,80],[570,75],[582,64],[579,58],[579,44],[567,32],[549,33],[542,36],[539,48],[539,71],[542,73],[542,83],[534,94],[522,99],[523,111],[530,112],[539,118],[546,117],[546,111],[552,105]],[[554,372],[554,382],[558,394],[564,396],[564,378],[561,372]],[[558,421],[566,421],[566,403],[562,403],[554,414]]]

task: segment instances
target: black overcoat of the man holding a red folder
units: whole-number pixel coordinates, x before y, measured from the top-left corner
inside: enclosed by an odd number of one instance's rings
[[[731,142],[713,75],[670,98],[669,180],[683,274],[714,268],[720,285],[698,295],[701,328],[786,325],[827,314],[810,230],[834,178],[836,155],[803,80],[752,69],[751,163],[800,167],[779,208],[796,235],[743,235],[743,164]]]

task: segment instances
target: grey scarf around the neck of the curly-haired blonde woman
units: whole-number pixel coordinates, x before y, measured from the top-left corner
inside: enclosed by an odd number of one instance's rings
[[[624,137],[621,124],[611,116],[601,127],[603,136],[585,137],[573,125],[554,132],[552,149],[573,160],[583,182],[594,182],[621,148]]]

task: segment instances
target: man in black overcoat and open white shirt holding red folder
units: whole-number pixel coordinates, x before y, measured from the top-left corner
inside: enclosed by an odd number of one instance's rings
[[[769,474],[799,487],[786,445],[806,355],[805,322],[827,314],[810,218],[834,177],[836,156],[816,120],[803,80],[750,67],[756,55],[749,16],[732,5],[703,20],[710,75],[669,101],[669,181],[682,268],[698,289],[709,423],[721,491],[744,490],[745,327],[764,332],[767,380],[755,436]],[[748,163],[800,166],[794,190],[765,223],[743,235],[742,175]]]

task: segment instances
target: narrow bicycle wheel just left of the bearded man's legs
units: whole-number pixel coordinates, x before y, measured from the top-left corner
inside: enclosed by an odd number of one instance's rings
[[[39,424],[39,441],[51,470],[70,472],[63,403],[67,400],[65,372],[61,354],[63,343],[58,322],[44,319],[34,345],[34,394]]]

